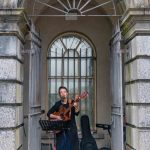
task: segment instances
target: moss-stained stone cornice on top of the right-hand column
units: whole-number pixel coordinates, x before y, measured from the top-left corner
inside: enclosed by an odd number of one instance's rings
[[[121,18],[121,31],[126,43],[137,35],[150,35],[150,9],[128,9]]]

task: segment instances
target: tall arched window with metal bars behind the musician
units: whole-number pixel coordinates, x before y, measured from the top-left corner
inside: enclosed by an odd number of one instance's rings
[[[69,89],[73,98],[82,91],[88,91],[85,100],[80,101],[81,113],[90,118],[91,127],[95,122],[95,51],[87,38],[76,33],[57,37],[48,49],[49,107],[58,100],[58,88]],[[77,119],[78,127],[80,126]]]

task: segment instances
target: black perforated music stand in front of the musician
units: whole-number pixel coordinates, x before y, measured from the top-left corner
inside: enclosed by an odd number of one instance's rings
[[[63,120],[39,120],[40,126],[44,131],[53,131],[54,133],[54,148],[56,150],[56,131],[66,130],[70,128],[69,121]]]

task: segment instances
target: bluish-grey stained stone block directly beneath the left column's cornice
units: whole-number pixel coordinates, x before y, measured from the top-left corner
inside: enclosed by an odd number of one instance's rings
[[[16,56],[22,60],[24,47],[16,36],[0,36],[0,56]]]

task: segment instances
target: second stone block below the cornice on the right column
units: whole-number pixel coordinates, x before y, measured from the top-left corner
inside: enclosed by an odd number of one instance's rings
[[[150,79],[150,59],[136,59],[125,66],[125,81]]]

